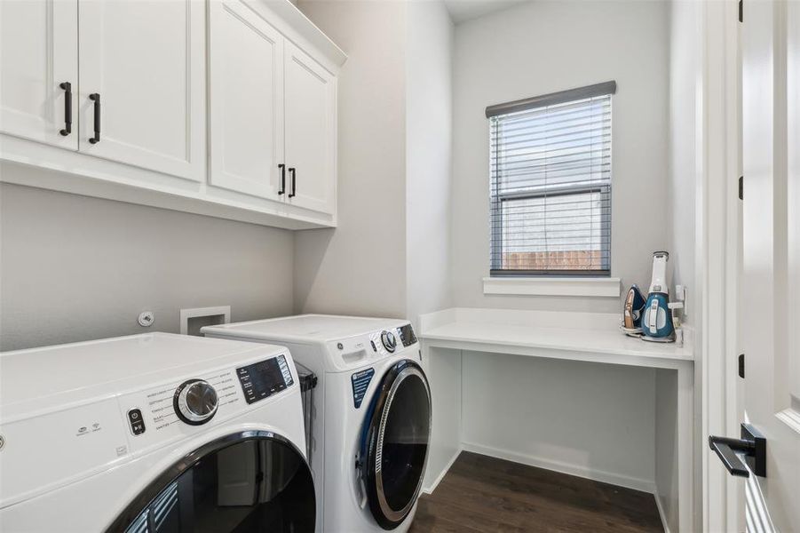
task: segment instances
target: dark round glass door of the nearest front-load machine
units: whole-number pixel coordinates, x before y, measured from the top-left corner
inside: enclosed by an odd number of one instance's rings
[[[272,432],[230,434],[194,450],[144,489],[107,529],[125,533],[313,533],[311,470]]]

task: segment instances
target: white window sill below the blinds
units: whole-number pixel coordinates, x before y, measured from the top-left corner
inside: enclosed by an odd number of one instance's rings
[[[583,296],[619,298],[620,278],[614,277],[486,277],[484,294],[517,296]]]

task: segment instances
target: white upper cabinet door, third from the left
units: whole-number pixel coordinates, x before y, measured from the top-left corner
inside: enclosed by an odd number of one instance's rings
[[[283,196],[283,36],[240,0],[210,2],[210,183]]]

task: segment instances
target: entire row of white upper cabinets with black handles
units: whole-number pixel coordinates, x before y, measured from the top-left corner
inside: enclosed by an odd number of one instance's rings
[[[0,0],[0,181],[336,226],[345,59],[286,0]]]

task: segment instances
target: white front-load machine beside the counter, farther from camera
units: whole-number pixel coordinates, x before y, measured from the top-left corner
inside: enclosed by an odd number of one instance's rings
[[[318,530],[408,529],[431,437],[431,393],[408,321],[306,314],[202,332],[287,346],[317,375]]]

